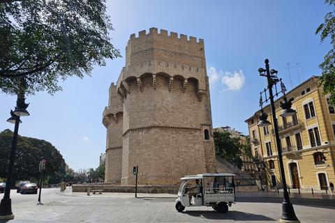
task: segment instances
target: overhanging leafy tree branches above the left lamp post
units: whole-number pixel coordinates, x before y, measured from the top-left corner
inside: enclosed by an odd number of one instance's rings
[[[93,66],[119,57],[105,13],[105,0],[1,0],[0,89],[53,94],[59,80],[90,75]]]

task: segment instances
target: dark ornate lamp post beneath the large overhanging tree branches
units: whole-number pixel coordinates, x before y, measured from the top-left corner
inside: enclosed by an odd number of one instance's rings
[[[24,100],[25,98],[23,96],[21,97],[17,96],[15,110],[14,112],[10,110],[11,117],[8,118],[7,120],[10,123],[15,123],[15,128],[14,128],[12,147],[10,149],[6,189],[5,194],[3,195],[3,199],[1,199],[0,203],[0,220],[14,219],[14,215],[12,212],[12,201],[10,199],[10,185],[12,185],[15,151],[17,146],[17,132],[19,131],[19,123],[22,123],[20,121],[20,116],[29,116],[29,112],[27,112],[26,110],[29,104],[26,104]]]

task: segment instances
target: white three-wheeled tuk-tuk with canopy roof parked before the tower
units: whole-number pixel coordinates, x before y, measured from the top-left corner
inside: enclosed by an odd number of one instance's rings
[[[228,206],[235,203],[234,176],[235,174],[197,174],[181,178],[183,182],[179,186],[176,209],[182,212],[185,207],[211,206],[220,213],[227,213]],[[200,193],[192,196],[190,202],[188,187],[193,187],[197,179],[200,181]]]

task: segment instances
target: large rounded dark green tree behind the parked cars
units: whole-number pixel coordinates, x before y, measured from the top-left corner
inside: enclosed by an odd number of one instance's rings
[[[4,130],[0,132],[0,178],[7,177],[10,148],[13,132]],[[13,183],[16,180],[31,180],[38,182],[40,160],[45,162],[45,176],[54,174],[61,168],[63,157],[57,148],[50,142],[29,137],[17,136],[17,149],[13,169]]]

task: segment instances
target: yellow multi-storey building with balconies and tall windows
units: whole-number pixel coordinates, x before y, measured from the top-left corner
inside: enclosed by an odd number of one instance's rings
[[[274,102],[276,120],[283,155],[286,183],[289,188],[302,190],[325,190],[329,182],[335,182],[334,155],[335,155],[335,111],[328,104],[329,95],[322,95],[322,87],[318,88],[318,76],[313,76],[286,93],[291,100],[292,109],[297,111],[295,116],[283,118],[280,102],[283,96]],[[259,144],[252,144],[253,155],[261,155],[260,160],[265,163],[267,183],[281,187],[281,173],[278,165],[278,150],[274,135],[274,123],[271,116],[271,107],[263,107],[269,114],[267,121],[271,125],[255,130],[254,117],[248,118],[249,133],[253,141],[260,137]],[[252,123],[254,121],[254,123]],[[259,150],[262,153],[259,153]]]

